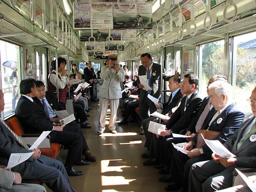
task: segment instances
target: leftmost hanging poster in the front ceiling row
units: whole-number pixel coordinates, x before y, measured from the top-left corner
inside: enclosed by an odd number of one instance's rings
[[[79,7],[86,9],[88,3],[77,3]],[[90,9],[81,10],[73,4],[74,29],[88,29],[91,27]]]

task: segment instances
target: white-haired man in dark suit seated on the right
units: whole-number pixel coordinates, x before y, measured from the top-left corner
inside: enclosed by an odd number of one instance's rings
[[[209,85],[208,90],[210,102],[217,112],[212,118],[205,118],[205,126],[201,130],[220,132],[214,140],[225,143],[227,138],[239,128],[244,113],[236,108],[236,103],[232,102],[231,84],[215,81]],[[206,144],[203,146],[197,144],[199,144],[198,134],[183,146],[184,150],[189,151],[187,155],[174,150],[169,180],[172,184],[166,186],[165,190],[179,190],[182,187],[183,191],[187,191],[190,166],[196,162],[210,159],[212,153],[210,148]]]

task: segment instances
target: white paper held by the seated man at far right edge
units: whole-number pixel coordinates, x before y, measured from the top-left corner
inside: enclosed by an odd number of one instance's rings
[[[204,141],[207,144],[207,146],[211,149],[211,151],[214,153],[217,153],[220,157],[223,157],[223,158],[236,157],[234,154],[228,151],[227,148],[219,140],[204,139]]]

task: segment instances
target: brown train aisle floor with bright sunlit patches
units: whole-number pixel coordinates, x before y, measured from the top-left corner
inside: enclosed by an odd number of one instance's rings
[[[143,166],[147,159],[141,157],[146,152],[144,135],[139,135],[140,123],[117,126],[118,134],[111,134],[106,125],[105,134],[97,135],[99,103],[92,102],[91,129],[82,129],[90,151],[97,157],[96,162],[86,166],[75,166],[85,175],[70,177],[71,184],[77,192],[114,192],[114,191],[164,191],[168,183],[161,183],[158,170],[154,166]],[[108,110],[106,120],[110,116]],[[118,108],[117,122],[122,120]],[[108,122],[106,123],[108,124]],[[117,123],[116,123],[117,125]],[[66,159],[67,150],[61,149],[58,160]],[[51,191],[47,188],[47,191]]]

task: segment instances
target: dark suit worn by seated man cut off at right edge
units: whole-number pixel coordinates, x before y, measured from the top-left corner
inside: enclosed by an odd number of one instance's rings
[[[215,189],[221,190],[231,187],[233,181],[232,171],[234,167],[256,167],[256,142],[250,141],[250,137],[248,137],[243,141],[240,148],[237,148],[238,142],[242,139],[242,134],[246,127],[252,126],[253,124],[254,133],[251,135],[256,134],[255,117],[251,112],[247,113],[240,125],[240,129],[237,129],[234,134],[227,139],[227,142],[224,143],[224,146],[232,154],[236,155],[235,158],[237,161],[234,163],[234,166],[225,168],[221,163],[216,163],[212,160],[195,163],[191,166],[189,191],[215,191]]]

